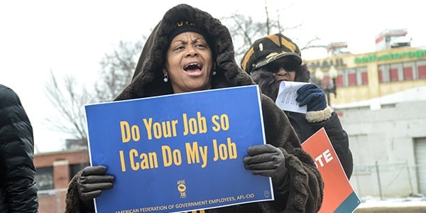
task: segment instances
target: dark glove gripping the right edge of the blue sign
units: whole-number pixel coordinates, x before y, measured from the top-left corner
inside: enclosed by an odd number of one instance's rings
[[[253,175],[271,177],[274,185],[282,185],[287,180],[285,158],[279,148],[271,144],[250,146],[247,153],[249,155],[243,159],[244,167]]]

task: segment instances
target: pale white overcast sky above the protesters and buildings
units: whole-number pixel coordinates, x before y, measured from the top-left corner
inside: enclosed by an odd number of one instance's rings
[[[375,36],[386,28],[407,28],[413,46],[426,45],[421,1],[272,1],[281,23],[301,25],[288,35],[302,43],[315,36],[327,44],[346,41],[352,53],[375,50]],[[393,3],[394,2],[394,3]],[[94,82],[104,54],[119,40],[148,35],[163,14],[179,3],[196,6],[215,18],[243,13],[264,20],[265,1],[1,1],[0,84],[15,90],[31,119],[37,151],[58,151],[67,138],[45,125],[54,116],[45,97],[50,70]],[[302,52],[324,58],[324,50]]]

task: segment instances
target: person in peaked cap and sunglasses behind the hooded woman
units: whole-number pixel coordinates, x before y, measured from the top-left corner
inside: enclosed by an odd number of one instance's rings
[[[241,60],[241,68],[249,73],[261,92],[275,99],[280,82],[310,82],[310,71],[302,63],[299,47],[281,33],[266,35],[256,40]],[[315,84],[306,84],[297,90],[296,101],[307,106],[307,113],[285,111],[300,141],[324,127],[349,179],[354,161],[349,149],[349,137],[339,116],[327,106],[325,94]]]

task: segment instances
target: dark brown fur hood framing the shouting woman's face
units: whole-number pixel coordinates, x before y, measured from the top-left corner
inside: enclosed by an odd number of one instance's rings
[[[179,4],[165,13],[146,40],[136,65],[133,79],[115,100],[173,94],[169,83],[163,82],[165,52],[170,34],[178,21],[191,21],[210,35],[217,75],[212,77],[212,89],[254,84],[234,58],[234,45],[226,26],[209,13],[187,4]]]

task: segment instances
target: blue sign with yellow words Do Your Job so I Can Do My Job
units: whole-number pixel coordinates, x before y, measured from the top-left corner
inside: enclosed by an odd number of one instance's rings
[[[273,200],[271,179],[244,169],[265,143],[256,85],[85,106],[92,165],[114,188],[97,212],[185,212]]]

